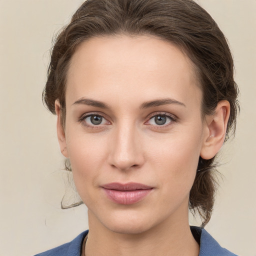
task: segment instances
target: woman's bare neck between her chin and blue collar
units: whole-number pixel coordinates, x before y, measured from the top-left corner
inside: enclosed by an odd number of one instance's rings
[[[199,245],[187,221],[168,219],[141,233],[124,234],[109,230],[88,212],[89,234],[86,256],[197,256]],[[179,216],[180,219],[180,216]]]

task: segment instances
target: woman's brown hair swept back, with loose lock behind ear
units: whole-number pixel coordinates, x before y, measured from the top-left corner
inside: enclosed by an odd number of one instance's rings
[[[153,35],[181,49],[193,62],[202,89],[202,115],[212,114],[220,100],[230,103],[226,139],[234,133],[239,110],[233,59],[225,36],[211,16],[192,0],[86,0],[55,39],[43,100],[55,114],[59,100],[65,124],[65,84],[70,58],[78,44],[94,36]],[[189,208],[210,219],[216,190],[214,157],[198,160]],[[68,165],[66,165],[68,169]]]

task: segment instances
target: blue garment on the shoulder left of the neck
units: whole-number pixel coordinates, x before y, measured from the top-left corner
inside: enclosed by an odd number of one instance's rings
[[[34,256],[80,256],[81,245],[87,233],[88,230],[80,233],[70,242],[64,243],[58,247],[44,251]]]

